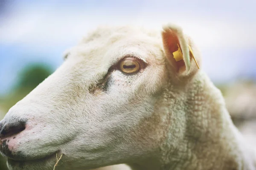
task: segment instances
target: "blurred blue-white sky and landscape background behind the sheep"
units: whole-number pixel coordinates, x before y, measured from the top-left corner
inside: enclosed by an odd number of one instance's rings
[[[256,0],[0,0],[0,119],[99,25],[183,27],[233,122],[256,144]],[[255,145],[256,146],[256,145]],[[6,162],[0,157],[0,169]]]

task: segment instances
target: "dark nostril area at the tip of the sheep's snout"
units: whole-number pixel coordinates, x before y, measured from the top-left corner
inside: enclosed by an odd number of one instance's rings
[[[13,136],[25,130],[26,122],[23,120],[13,120],[10,123],[0,123],[0,138]]]

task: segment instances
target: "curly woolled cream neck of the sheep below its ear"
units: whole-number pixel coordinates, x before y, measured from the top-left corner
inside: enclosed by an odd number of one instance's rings
[[[221,92],[204,74],[195,77],[185,92],[168,89],[165,93],[169,93],[164,95],[169,99],[159,103],[161,111],[166,113],[157,113],[165,116],[157,125],[160,130],[166,129],[160,139],[160,148],[152,152],[151,157],[130,164],[133,170],[239,170],[252,167]],[[163,106],[165,101],[169,103]]]

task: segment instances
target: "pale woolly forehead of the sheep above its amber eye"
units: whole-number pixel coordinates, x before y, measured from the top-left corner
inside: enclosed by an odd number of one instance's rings
[[[133,55],[144,62],[162,59],[160,31],[140,27],[100,27],[70,50],[84,63],[108,68],[124,56]],[[93,62],[93,63],[92,63]]]

